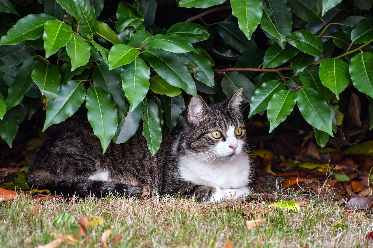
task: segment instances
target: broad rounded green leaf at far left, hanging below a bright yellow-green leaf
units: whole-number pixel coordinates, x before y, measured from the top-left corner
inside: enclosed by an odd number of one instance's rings
[[[32,79],[49,102],[56,99],[61,83],[61,73],[54,64],[37,63],[31,73]]]

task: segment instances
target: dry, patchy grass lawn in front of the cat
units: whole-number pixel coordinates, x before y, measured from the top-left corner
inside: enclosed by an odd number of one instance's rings
[[[272,209],[263,198],[257,201],[233,201],[221,204],[197,204],[193,199],[153,197],[104,199],[73,197],[39,203],[29,197],[0,203],[0,247],[37,247],[54,238],[51,232],[68,233],[69,223],[54,224],[61,213],[70,213],[78,225],[80,213],[99,216],[103,223],[88,228],[91,243],[83,247],[102,247],[101,235],[110,229],[109,241],[123,235],[109,247],[367,247],[364,237],[373,231],[373,212],[347,217],[342,205],[327,197],[273,193],[277,200],[305,200],[310,203],[298,212]],[[32,206],[40,210],[27,220]],[[268,212],[264,214],[263,209]],[[264,211],[265,212],[265,211]],[[249,230],[252,213],[265,219],[263,226]],[[337,223],[343,225],[338,225]],[[85,240],[85,236],[82,236]],[[373,242],[370,241],[370,245]],[[74,245],[79,247],[78,242]],[[62,243],[60,247],[71,247]]]

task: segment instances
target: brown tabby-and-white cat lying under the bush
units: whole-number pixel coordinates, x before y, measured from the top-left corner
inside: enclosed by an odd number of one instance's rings
[[[244,197],[250,193],[253,171],[241,101],[242,88],[210,106],[201,96],[193,97],[183,128],[176,134],[164,130],[154,156],[142,128],[123,144],[110,143],[103,154],[88,122],[65,121],[38,150],[28,183],[79,196],[140,197],[145,188],[206,203]]]

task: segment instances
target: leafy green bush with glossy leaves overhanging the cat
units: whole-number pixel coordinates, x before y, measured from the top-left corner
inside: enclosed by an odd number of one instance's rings
[[[172,131],[185,99],[203,92],[219,101],[243,87],[249,117],[267,110],[271,132],[297,105],[325,146],[342,124],[341,92],[355,88],[373,106],[372,2],[179,0],[181,12],[210,11],[160,29],[156,0],[121,2],[116,16],[100,15],[104,0],[3,0],[1,138],[12,146],[18,125],[41,105],[45,130],[85,102],[104,152],[142,120],[154,154],[164,118]],[[223,21],[203,21],[230,9]]]

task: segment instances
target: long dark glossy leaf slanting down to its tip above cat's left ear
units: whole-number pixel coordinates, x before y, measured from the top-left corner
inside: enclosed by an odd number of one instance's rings
[[[143,54],[151,67],[170,85],[182,88],[189,95],[197,97],[197,89],[188,69],[173,53],[150,48]]]

